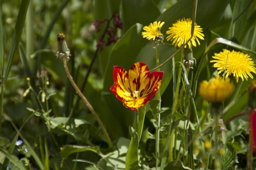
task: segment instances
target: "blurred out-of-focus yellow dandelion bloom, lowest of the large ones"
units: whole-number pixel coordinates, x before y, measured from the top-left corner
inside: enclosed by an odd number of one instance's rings
[[[199,94],[212,103],[224,102],[233,92],[234,85],[229,82],[229,79],[223,80],[222,77],[216,76],[209,82],[202,81],[199,86]]]

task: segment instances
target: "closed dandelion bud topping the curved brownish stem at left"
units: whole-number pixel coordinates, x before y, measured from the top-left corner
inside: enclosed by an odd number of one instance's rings
[[[60,57],[60,58],[66,57],[67,59],[69,59],[70,51],[65,41],[65,35],[63,33],[59,33],[57,35],[57,40],[58,40],[58,51],[56,53],[57,57]]]

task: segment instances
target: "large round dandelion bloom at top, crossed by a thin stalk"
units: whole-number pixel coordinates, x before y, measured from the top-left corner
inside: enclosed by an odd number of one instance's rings
[[[166,31],[166,34],[170,34],[166,37],[167,41],[171,40],[172,45],[175,45],[175,47],[182,46],[191,37],[191,25],[192,20],[190,18],[183,18],[182,20],[176,21],[176,23],[172,24],[172,27],[169,27],[169,30]],[[195,23],[194,35],[188,42],[189,48],[191,48],[191,43],[194,47],[196,47],[196,42],[198,45],[200,45],[198,38],[204,40],[204,34],[202,32],[202,28],[200,28],[200,26]],[[185,48],[186,47],[187,45]]]

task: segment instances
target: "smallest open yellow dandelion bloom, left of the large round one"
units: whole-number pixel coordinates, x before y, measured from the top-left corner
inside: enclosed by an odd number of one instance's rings
[[[161,27],[164,25],[164,22],[161,21],[154,21],[154,23],[150,23],[150,25],[143,27],[144,32],[142,32],[143,38],[146,38],[148,40],[155,40],[156,37],[159,37],[160,35],[163,35],[160,32]]]

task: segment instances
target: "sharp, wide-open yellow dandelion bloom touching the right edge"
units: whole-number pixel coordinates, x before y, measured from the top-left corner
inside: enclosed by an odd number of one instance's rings
[[[225,78],[233,75],[236,78],[236,82],[238,82],[239,77],[244,81],[244,78],[247,80],[248,76],[253,78],[251,72],[256,73],[254,61],[252,61],[248,54],[234,50],[230,52],[229,50],[223,49],[223,52],[214,53],[212,58],[216,60],[211,60],[210,63],[214,63],[213,67],[219,70],[218,74],[226,68]]]

